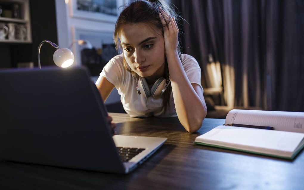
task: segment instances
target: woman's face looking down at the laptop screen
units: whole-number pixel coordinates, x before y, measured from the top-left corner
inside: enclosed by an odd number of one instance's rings
[[[140,77],[164,75],[164,37],[159,29],[145,23],[126,24],[119,38],[126,62]]]

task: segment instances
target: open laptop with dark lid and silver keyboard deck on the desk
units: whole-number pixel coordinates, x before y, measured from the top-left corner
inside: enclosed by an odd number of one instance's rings
[[[0,71],[0,160],[129,173],[167,140],[112,136],[85,67]]]

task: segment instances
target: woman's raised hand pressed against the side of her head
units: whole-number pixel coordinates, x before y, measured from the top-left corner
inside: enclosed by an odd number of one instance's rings
[[[161,7],[159,17],[164,29],[164,43],[165,54],[168,56],[170,53],[176,53],[178,49],[178,26],[174,18],[172,18],[168,12],[164,11]]]

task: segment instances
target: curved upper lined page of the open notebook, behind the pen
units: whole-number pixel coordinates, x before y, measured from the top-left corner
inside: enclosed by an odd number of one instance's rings
[[[278,131],[304,133],[304,112],[233,109],[226,116],[227,124],[270,126]]]

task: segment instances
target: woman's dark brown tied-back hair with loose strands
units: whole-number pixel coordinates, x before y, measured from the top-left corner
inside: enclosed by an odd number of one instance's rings
[[[159,29],[162,32],[162,35],[164,34],[163,24],[161,23],[161,19],[159,18],[159,9],[158,9],[159,6],[161,6],[161,8],[166,12],[168,12],[173,18],[175,18],[176,22],[178,22],[179,16],[176,15],[175,12],[163,0],[149,0],[149,1],[136,0],[130,3],[122,10],[116,21],[115,30],[114,30],[114,42],[115,42],[116,50],[118,52],[122,51],[119,42],[119,35],[123,25],[125,24],[146,23],[149,24],[150,26],[154,26],[157,29]],[[181,59],[180,45],[178,45],[178,54]],[[135,73],[127,66],[125,59],[123,61],[123,67],[129,72]],[[137,74],[136,77],[138,77]],[[167,80],[169,79],[169,69],[166,58],[165,58],[164,78],[166,78]],[[171,92],[172,92],[172,88],[170,84],[167,90],[163,94],[162,108],[164,109],[164,112],[166,112],[167,105],[169,105]]]

